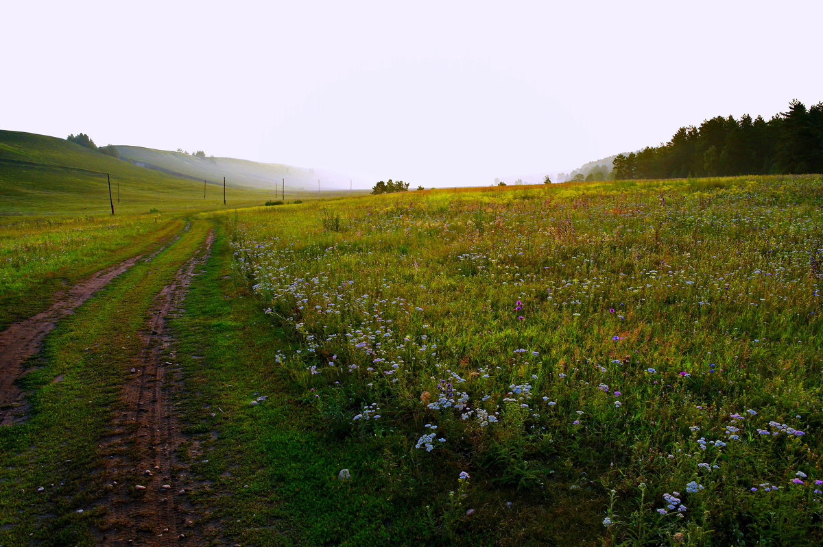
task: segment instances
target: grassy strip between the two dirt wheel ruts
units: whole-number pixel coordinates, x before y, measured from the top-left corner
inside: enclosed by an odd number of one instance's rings
[[[58,324],[22,380],[30,419],[0,429],[0,545],[95,545],[99,439],[142,347],[154,297],[202,243],[195,222],[151,262],[138,262]],[[42,490],[39,490],[42,487]]]

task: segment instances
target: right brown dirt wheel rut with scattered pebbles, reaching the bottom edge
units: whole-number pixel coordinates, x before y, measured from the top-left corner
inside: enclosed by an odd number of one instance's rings
[[[180,433],[174,397],[181,376],[174,365],[167,323],[183,310],[184,296],[208,257],[214,234],[163,287],[142,333],[143,348],[123,386],[125,410],[101,444],[108,489],[99,500],[108,513],[100,522],[102,545],[199,545],[188,494],[193,484],[178,448]],[[126,431],[127,435],[118,434]]]

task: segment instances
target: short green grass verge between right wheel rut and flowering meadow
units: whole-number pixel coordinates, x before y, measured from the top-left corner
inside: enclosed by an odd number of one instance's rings
[[[202,533],[212,545],[433,539],[439,531],[407,497],[420,489],[399,477],[377,480],[378,467],[396,464],[384,461],[377,439],[330,441],[313,402],[295,399],[300,390],[276,364],[290,342],[230,275],[230,263],[220,230],[206,273],[190,287],[186,314],[172,322],[188,392],[181,411],[192,435],[181,456],[207,485],[193,494]],[[351,480],[337,479],[343,468]]]

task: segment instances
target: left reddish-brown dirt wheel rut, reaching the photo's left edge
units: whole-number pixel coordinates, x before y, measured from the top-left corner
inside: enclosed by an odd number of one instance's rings
[[[48,310],[18,321],[0,333],[0,425],[10,425],[21,420],[24,399],[21,389],[16,386],[16,380],[26,372],[26,360],[40,352],[46,334],[54,329],[58,320],[71,315],[91,295],[141,258],[142,256],[134,256],[112,268],[97,272],[64,292],[58,292]]]

